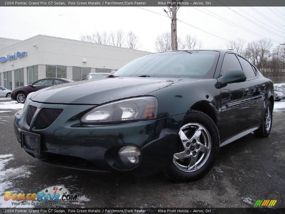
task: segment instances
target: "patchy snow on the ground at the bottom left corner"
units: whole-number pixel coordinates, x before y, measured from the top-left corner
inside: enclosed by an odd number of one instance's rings
[[[12,193],[23,193],[23,191],[17,188],[17,182],[21,182],[22,179],[28,178],[31,175],[29,169],[32,166],[20,166],[16,168],[6,168],[8,162],[14,159],[13,154],[0,155],[0,207],[33,207],[31,205],[13,206],[12,200],[4,200],[4,192],[10,191]],[[15,201],[14,201],[15,202]]]

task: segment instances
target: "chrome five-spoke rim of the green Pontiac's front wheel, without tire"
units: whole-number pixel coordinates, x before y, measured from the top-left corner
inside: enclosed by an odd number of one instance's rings
[[[174,165],[185,172],[200,169],[208,160],[211,138],[208,130],[198,123],[188,123],[179,130],[182,152],[173,155]]]

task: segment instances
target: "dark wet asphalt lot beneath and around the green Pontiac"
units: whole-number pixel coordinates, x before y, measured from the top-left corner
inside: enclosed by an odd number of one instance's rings
[[[265,199],[285,207],[285,111],[273,113],[268,138],[249,134],[222,147],[210,173],[188,183],[170,182],[162,174],[97,175],[39,163],[15,138],[16,111],[0,109],[0,207],[12,207],[4,191],[34,193],[52,185],[78,194],[69,207],[254,207]]]

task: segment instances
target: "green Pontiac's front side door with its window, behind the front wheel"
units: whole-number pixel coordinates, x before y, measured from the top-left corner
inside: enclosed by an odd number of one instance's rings
[[[242,70],[238,58],[233,53],[224,56],[220,77],[229,69]],[[230,83],[221,87],[220,139],[227,139],[248,128],[251,95],[248,81]]]

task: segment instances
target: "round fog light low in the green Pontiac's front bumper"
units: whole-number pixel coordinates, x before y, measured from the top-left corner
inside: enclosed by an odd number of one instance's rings
[[[119,159],[127,167],[133,167],[140,161],[140,150],[135,146],[124,146],[119,152]]]

